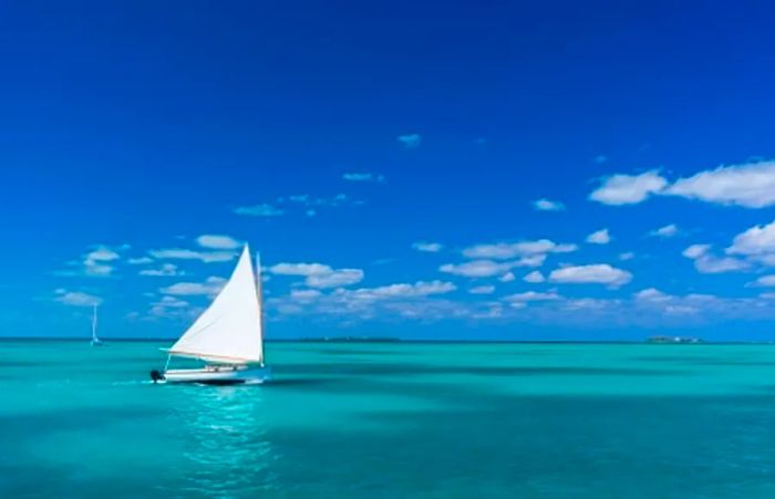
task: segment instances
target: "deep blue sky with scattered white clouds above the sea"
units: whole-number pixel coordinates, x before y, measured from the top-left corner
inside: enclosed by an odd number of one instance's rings
[[[772,339],[767,2],[3,2],[3,335]]]

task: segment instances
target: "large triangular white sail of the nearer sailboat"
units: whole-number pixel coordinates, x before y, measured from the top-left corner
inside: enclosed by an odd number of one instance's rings
[[[261,301],[246,245],[229,281],[169,353],[231,364],[262,363],[262,330]]]

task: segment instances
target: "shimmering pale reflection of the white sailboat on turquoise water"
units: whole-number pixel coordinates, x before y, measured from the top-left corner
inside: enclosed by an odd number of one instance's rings
[[[276,490],[271,467],[278,456],[268,438],[262,391],[190,386],[186,392],[188,403],[174,416],[187,439],[179,456],[183,489],[176,492],[229,498]]]

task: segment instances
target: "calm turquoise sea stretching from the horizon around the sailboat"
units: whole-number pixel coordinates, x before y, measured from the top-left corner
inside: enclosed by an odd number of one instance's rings
[[[272,343],[249,387],[157,346],[0,342],[0,497],[775,497],[773,346]]]

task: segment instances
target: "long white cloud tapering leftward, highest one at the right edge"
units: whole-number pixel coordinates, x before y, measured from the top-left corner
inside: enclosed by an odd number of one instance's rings
[[[676,180],[665,194],[720,205],[775,205],[775,160],[720,166]]]

